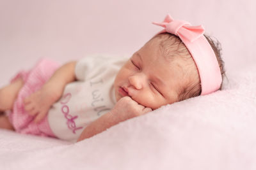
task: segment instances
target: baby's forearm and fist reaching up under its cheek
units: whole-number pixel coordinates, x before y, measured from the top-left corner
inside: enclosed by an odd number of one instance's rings
[[[105,131],[111,126],[118,124],[119,122],[144,115],[149,111],[152,111],[152,109],[138,104],[136,101],[133,101],[131,97],[122,97],[111,111],[102,115],[102,117],[88,125],[77,141],[90,138],[95,134]]]

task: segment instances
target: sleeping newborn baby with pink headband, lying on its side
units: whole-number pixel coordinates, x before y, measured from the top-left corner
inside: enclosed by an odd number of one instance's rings
[[[221,88],[220,50],[202,26],[170,15],[154,24],[164,30],[125,63],[125,58],[86,57],[58,67],[43,60],[17,74],[0,90],[0,111],[10,110],[2,113],[0,127],[81,141],[163,105]]]

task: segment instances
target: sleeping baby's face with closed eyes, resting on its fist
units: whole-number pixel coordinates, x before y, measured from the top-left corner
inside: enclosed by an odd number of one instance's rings
[[[157,41],[146,43],[116,75],[116,101],[130,96],[153,110],[178,101],[180,87],[184,85],[183,66],[182,59],[168,62]]]

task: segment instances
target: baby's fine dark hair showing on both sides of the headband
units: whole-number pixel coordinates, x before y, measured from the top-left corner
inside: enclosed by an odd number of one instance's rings
[[[218,60],[218,64],[220,66],[222,80],[225,76],[224,62],[221,58],[221,44],[215,38],[214,40],[209,36],[204,35],[207,41],[210,43],[212,50],[214,51],[216,58]],[[182,59],[187,64],[187,69],[182,67],[184,73],[184,82],[186,85],[179,90],[179,101],[183,101],[185,99],[189,99],[191,97],[200,96],[201,94],[201,85],[200,85],[200,77],[195,65],[195,62],[189,53],[188,48],[184,45],[184,43],[180,40],[178,36],[173,34],[164,32],[161,34],[157,34],[153,39],[160,39],[159,45],[160,50],[163,53],[163,56],[167,61],[173,61],[177,59],[177,57],[182,57]],[[193,81],[192,81],[193,80]],[[223,82],[223,81],[222,81]],[[222,82],[221,87],[222,88]]]

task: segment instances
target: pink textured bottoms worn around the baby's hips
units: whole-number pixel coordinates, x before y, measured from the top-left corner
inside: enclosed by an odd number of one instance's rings
[[[28,115],[24,110],[23,100],[36,90],[39,90],[51,78],[58,67],[59,64],[52,60],[41,59],[30,71],[20,71],[11,80],[12,82],[20,77],[24,80],[24,86],[20,89],[17,99],[13,104],[13,110],[8,113],[9,120],[15,131],[22,134],[56,137],[51,131],[47,117],[39,124],[33,122],[34,117]]]

